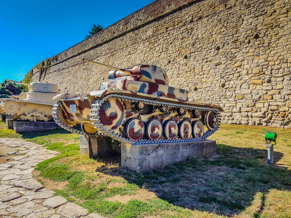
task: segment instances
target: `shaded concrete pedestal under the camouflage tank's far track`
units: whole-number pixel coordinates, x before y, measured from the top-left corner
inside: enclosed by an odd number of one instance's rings
[[[90,158],[112,156],[120,153],[120,146],[112,143],[108,136],[80,135],[80,154]]]

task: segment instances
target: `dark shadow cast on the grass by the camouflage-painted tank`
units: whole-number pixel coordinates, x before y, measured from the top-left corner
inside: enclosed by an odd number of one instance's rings
[[[220,215],[238,214],[251,206],[258,192],[260,213],[268,190],[291,191],[291,171],[267,165],[267,150],[217,144],[217,153],[216,158],[191,158],[144,174],[117,167],[120,160],[112,159],[96,171],[121,176],[139,187],[146,184],[146,189],[174,205]],[[274,152],[275,163],[282,157]]]

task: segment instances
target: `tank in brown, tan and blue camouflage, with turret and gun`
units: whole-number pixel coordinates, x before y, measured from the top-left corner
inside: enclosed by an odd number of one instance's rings
[[[220,126],[221,107],[188,101],[188,91],[169,86],[160,67],[119,69],[83,60],[112,70],[100,90],[54,97],[54,120],[68,131],[131,144],[167,143],[202,141]],[[76,124],[82,131],[73,128]]]

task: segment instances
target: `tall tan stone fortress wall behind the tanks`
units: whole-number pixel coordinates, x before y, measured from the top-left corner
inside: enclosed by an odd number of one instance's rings
[[[157,0],[54,57],[34,81],[87,92],[109,69],[153,64],[223,122],[291,128],[291,1]]]

